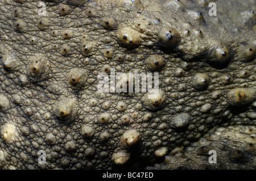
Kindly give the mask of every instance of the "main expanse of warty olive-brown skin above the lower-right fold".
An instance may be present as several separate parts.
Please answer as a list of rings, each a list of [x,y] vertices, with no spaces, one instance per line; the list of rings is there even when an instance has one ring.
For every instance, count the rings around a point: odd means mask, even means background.
[[[255,2],[214,2],[0,0],[0,169],[134,168],[223,123],[254,129]],[[159,94],[98,91],[113,69],[159,73]],[[248,151],[227,157],[253,168]]]

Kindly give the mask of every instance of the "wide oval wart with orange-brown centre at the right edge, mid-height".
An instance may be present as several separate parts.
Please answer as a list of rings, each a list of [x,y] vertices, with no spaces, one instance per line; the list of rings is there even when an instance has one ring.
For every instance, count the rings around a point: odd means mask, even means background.
[[[249,88],[236,88],[228,92],[227,101],[230,106],[243,106],[255,99],[255,90]]]

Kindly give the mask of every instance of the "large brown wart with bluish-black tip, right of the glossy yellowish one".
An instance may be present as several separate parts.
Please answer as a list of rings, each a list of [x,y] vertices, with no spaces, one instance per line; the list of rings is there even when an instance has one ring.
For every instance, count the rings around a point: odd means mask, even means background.
[[[180,33],[171,27],[163,27],[158,33],[159,43],[164,48],[174,48],[180,42]]]

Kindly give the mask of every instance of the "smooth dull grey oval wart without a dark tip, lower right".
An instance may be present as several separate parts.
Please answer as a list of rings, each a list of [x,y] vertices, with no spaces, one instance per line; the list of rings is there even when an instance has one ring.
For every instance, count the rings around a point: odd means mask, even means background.
[[[172,128],[183,128],[188,125],[190,120],[191,116],[188,113],[180,113],[171,120],[170,126]]]

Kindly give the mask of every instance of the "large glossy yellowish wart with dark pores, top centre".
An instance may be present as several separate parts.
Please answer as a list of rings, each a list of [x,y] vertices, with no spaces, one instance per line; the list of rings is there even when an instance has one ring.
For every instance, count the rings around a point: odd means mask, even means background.
[[[123,45],[123,47],[132,49],[136,48],[141,44],[141,36],[139,33],[131,28],[121,28],[117,31],[118,42]]]

